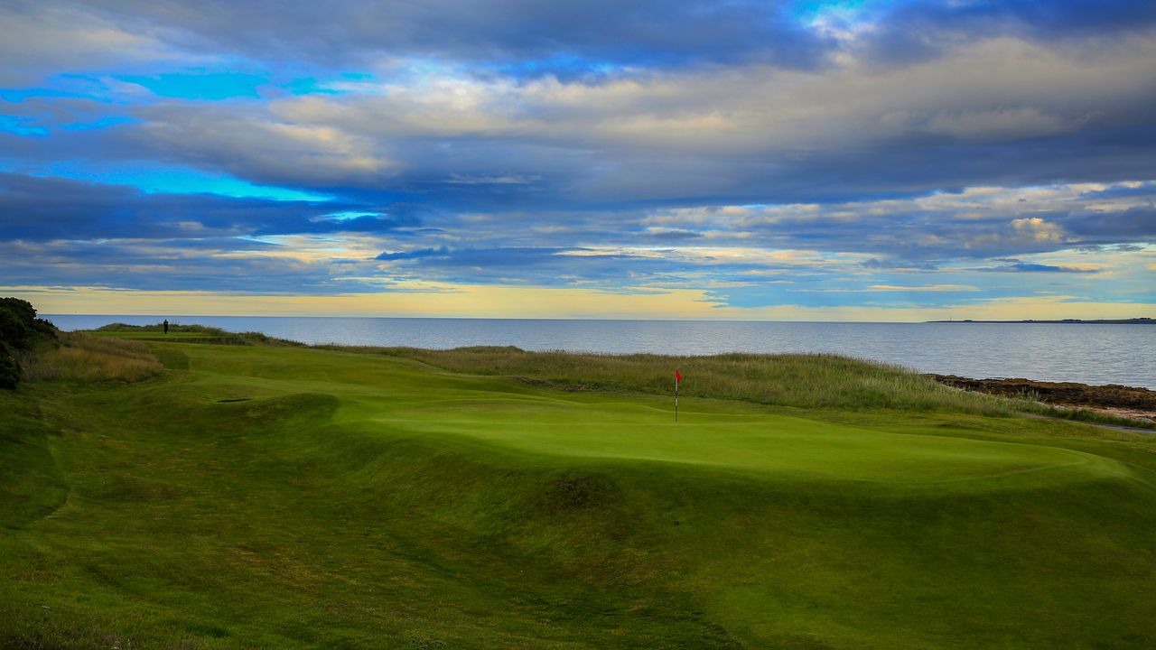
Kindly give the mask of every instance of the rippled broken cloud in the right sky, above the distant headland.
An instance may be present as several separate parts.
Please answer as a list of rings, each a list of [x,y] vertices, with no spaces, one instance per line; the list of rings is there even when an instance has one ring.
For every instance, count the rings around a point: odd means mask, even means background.
[[[1120,185],[1134,187],[1121,194],[1112,192],[1116,185],[1106,184],[969,187],[827,205],[674,208],[654,210],[642,223],[706,232],[711,241],[731,245],[872,253],[860,261],[866,269],[934,271],[951,258],[990,259],[1107,241],[1147,242],[1144,230],[1135,226],[1143,223],[1156,185]],[[1109,226],[1124,221],[1128,228],[1089,226],[1101,221]],[[1079,232],[1068,230],[1074,223],[1081,224]]]

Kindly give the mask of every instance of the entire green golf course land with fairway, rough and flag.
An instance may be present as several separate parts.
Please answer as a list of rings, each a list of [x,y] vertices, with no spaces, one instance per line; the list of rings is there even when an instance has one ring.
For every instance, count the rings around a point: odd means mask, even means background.
[[[1151,433],[821,355],[69,337],[0,391],[3,648],[1156,648]]]

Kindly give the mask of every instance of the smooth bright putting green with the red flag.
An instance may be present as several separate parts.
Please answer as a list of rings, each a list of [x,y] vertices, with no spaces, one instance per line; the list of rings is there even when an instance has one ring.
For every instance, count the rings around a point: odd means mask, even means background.
[[[421,419],[377,421],[541,453],[686,463],[796,478],[924,483],[1030,472],[1046,473],[1037,477],[1045,481],[1126,473],[1118,463],[1064,449],[891,434],[770,415],[720,422],[726,418],[689,412],[674,424],[669,413],[655,411],[484,402],[443,405]]]

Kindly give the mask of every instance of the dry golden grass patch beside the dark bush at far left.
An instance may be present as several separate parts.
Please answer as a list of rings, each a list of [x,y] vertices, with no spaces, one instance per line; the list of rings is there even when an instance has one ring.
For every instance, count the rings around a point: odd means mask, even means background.
[[[164,370],[141,342],[76,332],[61,332],[59,342],[59,347],[40,350],[23,363],[24,379],[141,382]]]

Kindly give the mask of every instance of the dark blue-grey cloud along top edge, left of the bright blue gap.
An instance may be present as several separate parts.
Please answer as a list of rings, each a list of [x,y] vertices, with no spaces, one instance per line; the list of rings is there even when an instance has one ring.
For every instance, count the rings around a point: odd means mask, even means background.
[[[95,0],[59,5],[98,14],[185,50],[326,66],[365,65],[383,56],[521,64],[527,74],[551,67],[565,72],[583,60],[590,60],[591,69],[605,62],[668,66],[750,59],[812,66],[830,47],[823,37],[792,20],[786,12],[792,3],[786,1],[207,0],[190,5]],[[551,64],[558,57],[563,58]],[[536,66],[525,65],[527,60]]]

